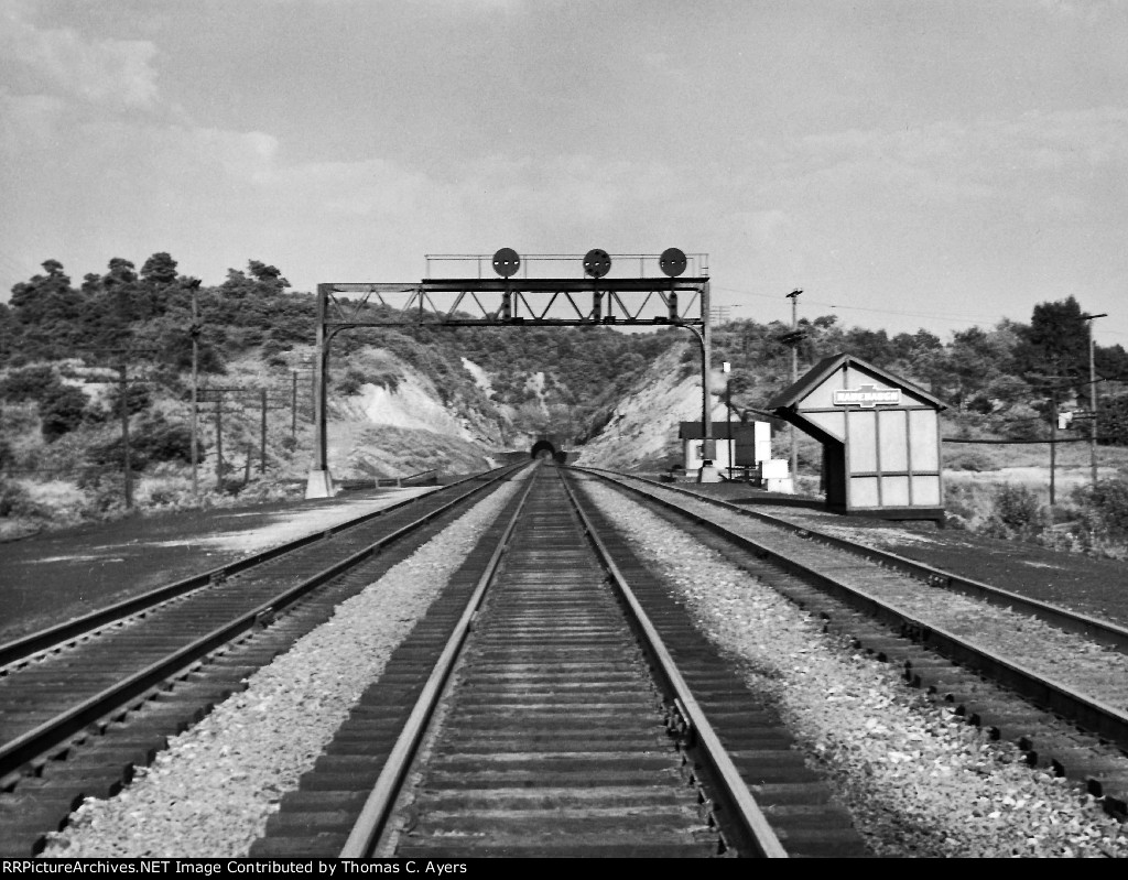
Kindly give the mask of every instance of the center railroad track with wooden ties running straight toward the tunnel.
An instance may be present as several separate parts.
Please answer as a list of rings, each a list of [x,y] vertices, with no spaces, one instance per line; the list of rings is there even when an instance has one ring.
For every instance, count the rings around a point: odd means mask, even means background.
[[[865,854],[770,706],[587,507],[538,468],[252,855]]]

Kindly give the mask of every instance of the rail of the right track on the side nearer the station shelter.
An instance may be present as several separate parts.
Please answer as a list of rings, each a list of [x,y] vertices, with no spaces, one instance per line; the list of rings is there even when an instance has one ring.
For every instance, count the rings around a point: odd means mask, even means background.
[[[961,574],[954,574],[950,571],[945,571],[944,569],[937,569],[923,562],[916,562],[915,560],[899,556],[898,554],[889,551],[867,547],[852,542],[848,538],[840,538],[836,535],[828,535],[825,531],[819,531],[818,529],[809,526],[799,526],[794,522],[788,522],[785,519],[779,519],[778,517],[774,517],[770,513],[765,513],[760,510],[741,508],[721,499],[708,498],[707,495],[700,495],[686,489],[678,489],[677,486],[658,483],[647,477],[619,474],[614,470],[607,470],[598,467],[579,467],[575,469],[598,474],[606,479],[615,479],[617,482],[620,482],[622,479],[633,479],[638,483],[643,483],[644,485],[653,486],[654,489],[673,492],[679,495],[694,499],[695,501],[700,501],[703,503],[721,508],[730,513],[750,517],[770,526],[776,526],[785,531],[790,531],[801,538],[809,538],[811,540],[835,547],[836,549],[845,551],[846,553],[851,553],[855,556],[862,556],[870,562],[874,562],[888,569],[909,574],[924,581],[929,587],[952,590],[953,592],[970,596],[972,598],[980,599],[981,601],[989,602],[990,605],[996,605],[1001,608],[1011,608],[1012,610],[1029,614],[1032,617],[1038,617],[1046,623],[1058,627],[1059,630],[1064,630],[1065,632],[1073,633],[1075,635],[1083,635],[1086,639],[1108,648],[1113,648],[1123,653],[1128,653],[1128,627],[1120,626],[1109,621],[1101,621],[1078,611],[1072,611],[1068,608],[1050,605],[1049,602],[1039,601],[1038,599],[1031,599],[1026,596],[1004,590],[1001,587],[993,587],[971,578],[964,578]]]

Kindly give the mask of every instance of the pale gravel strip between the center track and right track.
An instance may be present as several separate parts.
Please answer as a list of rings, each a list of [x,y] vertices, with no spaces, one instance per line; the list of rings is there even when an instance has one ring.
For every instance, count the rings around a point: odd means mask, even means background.
[[[609,489],[584,484],[698,625],[772,695],[873,851],[889,856],[1128,856],[1072,783],[932,706],[769,588]]]

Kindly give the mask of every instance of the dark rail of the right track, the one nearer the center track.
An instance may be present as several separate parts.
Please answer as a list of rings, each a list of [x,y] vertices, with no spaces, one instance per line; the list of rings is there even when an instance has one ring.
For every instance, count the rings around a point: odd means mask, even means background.
[[[929,644],[938,653],[955,662],[1004,684],[1036,704],[1073,720],[1079,727],[1113,742],[1117,747],[1128,749],[1128,714],[1114,706],[1109,706],[1099,699],[1081,694],[1060,681],[1034,672],[942,627],[913,617],[857,587],[851,587],[829,574],[811,569],[791,554],[768,547],[747,536],[738,535],[721,523],[678,507],[672,501],[651,495],[636,486],[608,477],[606,474],[594,473],[590,469],[581,470],[588,470],[592,476],[627,492],[642,495],[761,558],[772,560],[785,571],[816,583],[820,589],[872,617],[876,617],[893,627],[899,627],[905,635]]]

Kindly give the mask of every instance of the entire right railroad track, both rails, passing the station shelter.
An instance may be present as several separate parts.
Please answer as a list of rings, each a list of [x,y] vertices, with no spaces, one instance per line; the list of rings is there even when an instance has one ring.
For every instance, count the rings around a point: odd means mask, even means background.
[[[579,469],[578,469],[579,470]],[[1031,765],[1128,811],[1128,631],[649,479],[585,468],[900,666]]]

